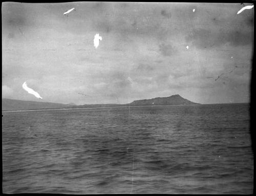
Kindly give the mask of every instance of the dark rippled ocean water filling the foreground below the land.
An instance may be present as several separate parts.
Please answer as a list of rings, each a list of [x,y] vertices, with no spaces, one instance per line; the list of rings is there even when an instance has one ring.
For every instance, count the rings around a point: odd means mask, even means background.
[[[4,193],[252,193],[249,104],[5,112]]]

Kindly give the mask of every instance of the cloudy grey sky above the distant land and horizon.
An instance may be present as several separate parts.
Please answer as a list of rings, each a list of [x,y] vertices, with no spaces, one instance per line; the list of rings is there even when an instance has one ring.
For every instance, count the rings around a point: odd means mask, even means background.
[[[246,5],[5,2],[2,96],[93,104],[179,94],[198,103],[249,102],[254,8],[237,14]],[[28,94],[25,81],[43,99]]]

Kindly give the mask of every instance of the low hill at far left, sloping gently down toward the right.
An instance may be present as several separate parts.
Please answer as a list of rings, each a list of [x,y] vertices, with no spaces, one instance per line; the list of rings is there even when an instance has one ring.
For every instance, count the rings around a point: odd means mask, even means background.
[[[68,105],[61,104],[61,103],[2,99],[2,111],[36,110],[36,109],[50,109],[50,108],[64,108],[64,107],[67,108]]]

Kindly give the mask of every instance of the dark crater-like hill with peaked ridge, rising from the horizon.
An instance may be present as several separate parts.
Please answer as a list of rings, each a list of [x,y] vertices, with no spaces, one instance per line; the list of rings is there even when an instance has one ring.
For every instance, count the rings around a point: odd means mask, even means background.
[[[180,105],[180,104],[199,104],[199,103],[194,103],[192,101],[184,99],[180,95],[136,100],[130,103],[130,105]]]

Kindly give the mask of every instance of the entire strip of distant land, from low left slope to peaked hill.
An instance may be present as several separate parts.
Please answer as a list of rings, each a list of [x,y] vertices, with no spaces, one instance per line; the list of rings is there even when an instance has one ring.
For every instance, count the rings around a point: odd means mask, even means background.
[[[153,99],[135,100],[127,104],[84,104],[76,105],[74,103],[50,103],[39,101],[22,101],[15,99],[2,99],[2,111],[19,111],[19,110],[42,110],[42,109],[61,109],[61,108],[87,108],[87,107],[114,107],[114,106],[140,106],[140,105],[187,105],[200,104],[184,99],[180,95],[169,97],[157,97]]]

